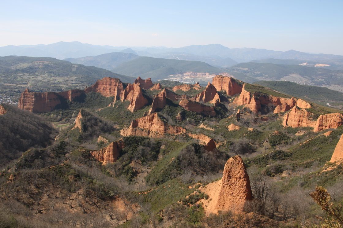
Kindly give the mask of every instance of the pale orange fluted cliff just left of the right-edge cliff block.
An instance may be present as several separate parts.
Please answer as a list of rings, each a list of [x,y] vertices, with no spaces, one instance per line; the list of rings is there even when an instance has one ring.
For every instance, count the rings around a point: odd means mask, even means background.
[[[313,113],[294,106],[290,112],[283,117],[283,126],[289,127],[315,127],[316,122],[311,120]]]

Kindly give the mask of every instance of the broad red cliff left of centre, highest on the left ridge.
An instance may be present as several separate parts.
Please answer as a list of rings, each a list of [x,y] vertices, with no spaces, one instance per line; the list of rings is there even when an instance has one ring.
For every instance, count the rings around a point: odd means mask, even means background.
[[[97,92],[104,97],[115,97],[119,100],[124,90],[123,83],[118,78],[105,77],[96,81],[90,87],[85,88],[85,92]]]

